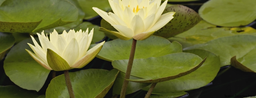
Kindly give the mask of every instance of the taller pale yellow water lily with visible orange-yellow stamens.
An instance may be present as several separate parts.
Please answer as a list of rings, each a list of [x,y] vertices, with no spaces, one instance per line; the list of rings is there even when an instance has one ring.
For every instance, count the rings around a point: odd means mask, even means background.
[[[108,0],[113,10],[104,12],[93,7],[104,20],[109,22],[116,30],[108,31],[122,40],[145,40],[153,35],[156,30],[165,26],[172,20],[175,12],[161,15],[166,7],[167,1],[160,6],[161,0]]]

